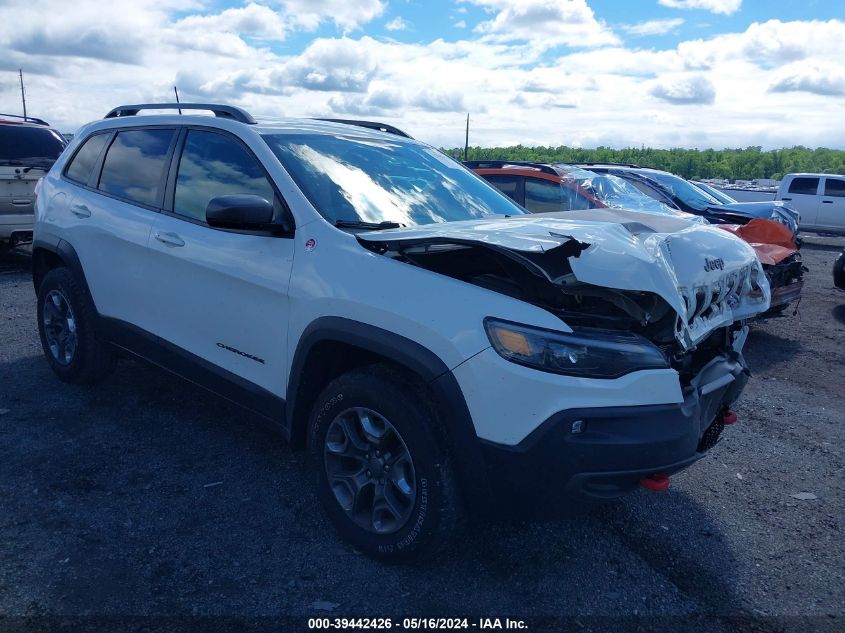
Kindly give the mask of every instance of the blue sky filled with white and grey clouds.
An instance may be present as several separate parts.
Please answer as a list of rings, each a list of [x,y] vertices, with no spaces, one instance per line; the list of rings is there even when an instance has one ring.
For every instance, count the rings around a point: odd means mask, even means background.
[[[0,112],[392,123],[439,147],[845,149],[845,0],[0,0]]]

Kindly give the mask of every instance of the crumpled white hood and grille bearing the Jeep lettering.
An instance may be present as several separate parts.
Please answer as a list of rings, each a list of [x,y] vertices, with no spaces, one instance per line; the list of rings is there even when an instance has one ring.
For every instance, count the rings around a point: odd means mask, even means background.
[[[379,231],[359,240],[541,307],[570,328],[634,332],[681,353],[768,309],[760,263],[723,231],[622,211],[551,215]]]

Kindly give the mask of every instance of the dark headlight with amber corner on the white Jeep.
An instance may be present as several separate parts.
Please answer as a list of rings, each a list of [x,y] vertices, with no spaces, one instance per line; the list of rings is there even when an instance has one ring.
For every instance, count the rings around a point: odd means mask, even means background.
[[[506,360],[555,374],[618,378],[642,369],[666,369],[663,352],[637,334],[578,328],[572,334],[487,318],[493,349]]]

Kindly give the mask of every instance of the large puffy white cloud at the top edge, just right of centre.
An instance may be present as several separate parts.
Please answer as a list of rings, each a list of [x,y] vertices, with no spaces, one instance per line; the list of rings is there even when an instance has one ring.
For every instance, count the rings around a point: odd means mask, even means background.
[[[495,12],[475,30],[501,42],[528,41],[540,47],[603,46],[619,40],[596,19],[586,0],[466,0]]]

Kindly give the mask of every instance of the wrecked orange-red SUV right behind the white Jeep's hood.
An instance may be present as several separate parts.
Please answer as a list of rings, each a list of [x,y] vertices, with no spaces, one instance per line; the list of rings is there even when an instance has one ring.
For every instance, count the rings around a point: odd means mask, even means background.
[[[673,209],[647,196],[612,174],[553,163],[478,160],[464,164],[531,213],[618,208],[707,223],[701,216]],[[806,269],[792,232],[778,222],[762,218],[744,225],[717,226],[742,238],[756,251],[772,289],[771,306],[763,316],[776,316],[791,304],[797,306]]]

